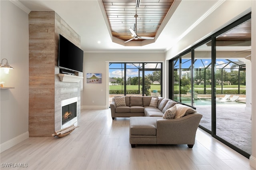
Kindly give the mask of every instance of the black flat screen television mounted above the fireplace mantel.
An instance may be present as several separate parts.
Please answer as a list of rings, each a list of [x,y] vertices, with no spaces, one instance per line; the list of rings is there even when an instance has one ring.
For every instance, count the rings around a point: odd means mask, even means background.
[[[62,69],[83,72],[84,51],[60,35],[58,66]]]

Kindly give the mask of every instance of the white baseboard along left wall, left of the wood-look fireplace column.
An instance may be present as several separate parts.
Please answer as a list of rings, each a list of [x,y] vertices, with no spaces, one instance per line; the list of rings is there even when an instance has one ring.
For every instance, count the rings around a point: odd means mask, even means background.
[[[23,140],[27,139],[29,137],[28,131],[20,134],[19,136],[16,136],[15,138],[12,138],[2,144],[0,144],[0,150],[1,152],[4,152],[5,150],[11,148],[12,146],[22,142]]]

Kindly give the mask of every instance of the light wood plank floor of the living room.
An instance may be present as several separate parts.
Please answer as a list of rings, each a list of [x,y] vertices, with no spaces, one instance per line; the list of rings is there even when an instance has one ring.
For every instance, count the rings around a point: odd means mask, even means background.
[[[1,170],[254,170],[249,160],[200,128],[187,145],[129,143],[129,118],[112,121],[110,109],[83,109],[79,128],[63,138],[29,138],[2,152]],[[5,164],[28,165],[6,168]]]

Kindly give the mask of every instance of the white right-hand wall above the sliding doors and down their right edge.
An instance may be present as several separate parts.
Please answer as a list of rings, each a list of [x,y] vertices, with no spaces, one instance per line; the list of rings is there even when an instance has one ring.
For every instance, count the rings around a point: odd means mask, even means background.
[[[252,85],[255,86],[255,65],[256,65],[256,2],[255,0],[239,0],[239,1],[225,1],[214,12],[200,22],[191,32],[189,32],[184,38],[176,43],[172,48],[166,51],[166,60],[172,59],[180,52],[188,49],[192,45],[204,40],[208,36],[217,32],[221,28],[224,28],[228,24],[231,24],[235,20],[241,18],[245,14],[252,12]],[[247,69],[247,65],[246,65]],[[250,67],[249,67],[250,71]],[[248,74],[250,75],[250,73]],[[166,82],[168,83],[168,82]],[[246,82],[250,83],[250,82]],[[166,85],[168,86],[168,85]],[[247,86],[247,85],[246,85]],[[248,85],[250,87],[250,85]],[[246,88],[247,90],[247,88]],[[250,165],[256,168],[256,91],[255,88],[251,88],[252,96],[252,156],[250,156]],[[250,93],[250,91],[247,91]],[[250,95],[248,95],[250,97]]]

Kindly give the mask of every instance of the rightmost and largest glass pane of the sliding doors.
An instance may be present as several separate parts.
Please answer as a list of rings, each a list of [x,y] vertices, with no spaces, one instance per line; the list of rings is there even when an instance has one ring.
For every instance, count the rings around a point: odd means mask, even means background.
[[[216,37],[216,136],[251,154],[251,117],[246,108],[246,63],[251,59],[251,20]],[[230,39],[230,35],[239,38]],[[225,49],[225,51],[223,50]],[[224,98],[228,96],[227,98]]]

